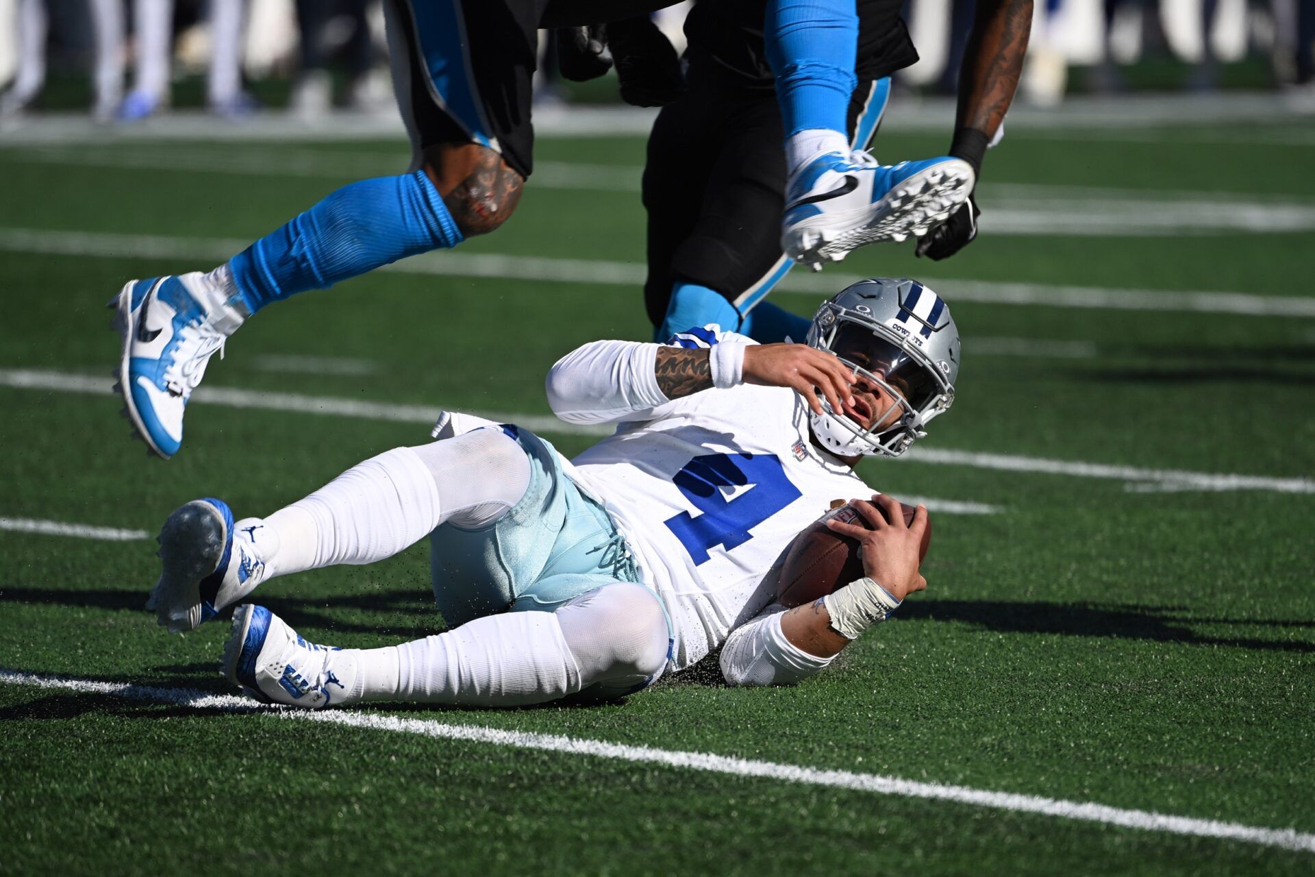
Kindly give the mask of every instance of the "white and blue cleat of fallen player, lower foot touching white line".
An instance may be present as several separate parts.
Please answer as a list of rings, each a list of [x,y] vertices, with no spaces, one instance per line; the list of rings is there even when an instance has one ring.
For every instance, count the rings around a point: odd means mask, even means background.
[[[352,652],[308,643],[264,606],[238,606],[224,644],[229,682],[263,703],[323,709],[352,693],[359,664]]]

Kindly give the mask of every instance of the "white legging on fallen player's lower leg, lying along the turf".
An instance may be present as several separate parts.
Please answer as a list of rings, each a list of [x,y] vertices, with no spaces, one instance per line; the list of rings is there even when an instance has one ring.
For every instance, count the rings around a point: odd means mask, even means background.
[[[647,588],[605,585],[555,613],[502,613],[402,646],[354,651],[351,699],[460,706],[623,694],[667,664],[667,619]]]

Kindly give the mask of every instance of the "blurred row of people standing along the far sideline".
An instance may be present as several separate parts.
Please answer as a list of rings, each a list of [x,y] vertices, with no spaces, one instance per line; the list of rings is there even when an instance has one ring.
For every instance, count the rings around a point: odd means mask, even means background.
[[[906,0],[922,59],[898,87],[952,93],[974,0]],[[659,13],[684,46],[689,4]],[[542,39],[551,55],[552,39]],[[1291,89],[1315,96],[1315,0],[1038,0],[1020,97]],[[241,118],[389,112],[379,0],[0,0],[0,116],[132,124],[170,108]],[[537,103],[619,100],[540,66]],[[610,79],[610,78],[609,78]]]

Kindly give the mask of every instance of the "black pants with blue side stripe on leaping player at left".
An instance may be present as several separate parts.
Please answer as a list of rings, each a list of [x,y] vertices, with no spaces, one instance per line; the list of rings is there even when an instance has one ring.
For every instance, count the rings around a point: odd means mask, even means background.
[[[473,142],[530,176],[539,28],[630,17],[672,1],[385,0],[393,88],[416,167],[427,146]]]

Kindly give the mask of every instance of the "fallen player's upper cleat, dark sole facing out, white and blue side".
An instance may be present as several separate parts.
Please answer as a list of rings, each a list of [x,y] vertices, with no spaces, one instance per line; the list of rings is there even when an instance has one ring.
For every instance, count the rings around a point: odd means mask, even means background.
[[[155,539],[160,579],[147,609],[171,634],[195,630],[266,579],[276,536],[259,518],[234,522],[222,500],[195,500],[168,517]]]

